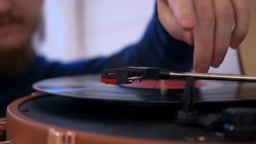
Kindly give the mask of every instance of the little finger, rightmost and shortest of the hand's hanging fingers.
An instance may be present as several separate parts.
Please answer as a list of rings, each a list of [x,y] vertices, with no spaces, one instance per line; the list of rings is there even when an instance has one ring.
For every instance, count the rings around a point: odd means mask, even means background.
[[[231,0],[235,11],[235,27],[232,32],[230,46],[234,49],[238,47],[245,39],[251,19],[251,11],[247,1]]]

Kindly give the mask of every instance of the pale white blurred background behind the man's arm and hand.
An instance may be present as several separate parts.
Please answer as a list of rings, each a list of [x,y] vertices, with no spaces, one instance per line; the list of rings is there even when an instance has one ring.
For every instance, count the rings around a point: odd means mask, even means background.
[[[154,13],[155,0],[46,0],[43,43],[37,51],[62,62],[108,56],[138,41]],[[235,50],[210,73],[240,74]]]

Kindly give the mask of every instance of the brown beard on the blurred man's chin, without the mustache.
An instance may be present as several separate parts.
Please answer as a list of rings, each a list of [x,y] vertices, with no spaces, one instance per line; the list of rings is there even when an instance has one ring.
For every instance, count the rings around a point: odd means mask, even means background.
[[[0,77],[14,77],[26,73],[34,58],[31,43],[25,43],[12,50],[0,47]]]

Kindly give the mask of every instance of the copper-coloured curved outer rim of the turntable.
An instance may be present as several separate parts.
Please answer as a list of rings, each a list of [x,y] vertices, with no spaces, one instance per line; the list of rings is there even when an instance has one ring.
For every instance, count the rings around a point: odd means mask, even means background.
[[[85,131],[72,130],[62,127],[56,127],[55,125],[45,124],[28,118],[19,112],[19,106],[26,101],[43,97],[42,93],[32,93],[24,98],[20,98],[11,103],[7,108],[7,140],[15,140],[18,143],[26,144],[61,144],[66,142],[67,144],[201,144],[202,142],[186,142],[186,141],[159,141],[159,140],[146,140],[146,139],[133,139],[129,137],[110,136],[103,134],[88,133]],[[57,137],[60,134],[64,137]],[[66,139],[65,137],[68,138]],[[74,137],[70,137],[74,136]],[[207,142],[211,144],[224,144],[223,142]]]

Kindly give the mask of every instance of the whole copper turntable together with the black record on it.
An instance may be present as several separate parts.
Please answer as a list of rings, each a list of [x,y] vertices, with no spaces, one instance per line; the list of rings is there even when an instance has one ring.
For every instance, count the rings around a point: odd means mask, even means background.
[[[222,131],[200,125],[177,124],[174,119],[182,106],[182,87],[101,85],[97,77],[60,77],[36,83],[34,88],[40,93],[8,106],[7,140],[26,144],[255,143],[230,139]],[[204,115],[232,106],[255,107],[254,87],[250,82],[200,81],[195,109]]]

